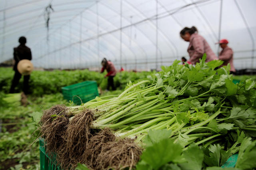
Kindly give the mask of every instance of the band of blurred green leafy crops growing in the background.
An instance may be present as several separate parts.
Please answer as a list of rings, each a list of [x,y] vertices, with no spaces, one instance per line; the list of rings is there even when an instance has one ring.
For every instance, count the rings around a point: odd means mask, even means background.
[[[14,71],[12,68],[0,68],[0,92],[8,93]],[[61,92],[61,88],[69,86],[79,82],[88,80],[94,80],[97,82],[98,87],[105,90],[107,87],[107,78],[104,78],[106,72],[100,74],[100,72],[92,72],[89,70],[53,70],[53,71],[33,71],[30,76],[30,92],[34,96],[42,96],[44,94],[55,94]],[[126,83],[129,81],[134,82],[138,79],[144,79],[151,72],[122,72],[116,74],[114,77],[114,83],[119,89],[124,89]],[[22,88],[22,81],[16,88],[16,92],[20,92]]]

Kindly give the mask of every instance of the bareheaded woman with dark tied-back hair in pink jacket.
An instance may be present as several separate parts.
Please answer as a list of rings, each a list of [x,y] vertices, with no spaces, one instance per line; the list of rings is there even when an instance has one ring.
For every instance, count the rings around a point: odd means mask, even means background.
[[[204,53],[206,53],[206,62],[218,60],[204,37],[197,32],[198,30],[194,26],[191,28],[185,27],[180,31],[181,38],[186,42],[190,42],[188,46],[188,54],[190,56],[188,63],[196,64]]]

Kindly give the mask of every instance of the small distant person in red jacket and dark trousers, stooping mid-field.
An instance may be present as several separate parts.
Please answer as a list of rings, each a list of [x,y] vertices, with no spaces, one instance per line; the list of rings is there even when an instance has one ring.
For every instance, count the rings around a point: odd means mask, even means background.
[[[105,69],[108,72],[108,74],[104,76],[105,78],[108,77],[107,90],[109,90],[110,86],[112,90],[116,90],[116,87],[114,85],[114,76],[116,76],[116,68],[114,67],[114,64],[111,61],[108,61],[106,58],[104,58],[101,62],[101,65],[101,73],[103,73]]]

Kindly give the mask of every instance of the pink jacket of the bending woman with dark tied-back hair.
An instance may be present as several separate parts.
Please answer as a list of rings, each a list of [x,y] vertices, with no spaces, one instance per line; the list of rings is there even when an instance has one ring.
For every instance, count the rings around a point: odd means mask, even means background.
[[[204,53],[207,55],[206,62],[218,60],[217,56],[214,54],[204,37],[194,33],[190,36],[189,42],[190,44],[188,46],[188,54],[190,59],[188,61],[192,64],[199,62],[199,59],[202,58]]]

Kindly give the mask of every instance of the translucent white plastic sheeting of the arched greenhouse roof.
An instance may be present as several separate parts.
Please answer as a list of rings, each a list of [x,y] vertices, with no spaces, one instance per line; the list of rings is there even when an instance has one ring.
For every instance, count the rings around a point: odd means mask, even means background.
[[[0,62],[26,36],[35,67],[98,68],[107,58],[155,69],[189,58],[179,32],[196,26],[216,54],[215,42],[229,40],[236,69],[255,68],[255,8],[255,0],[1,0]]]

